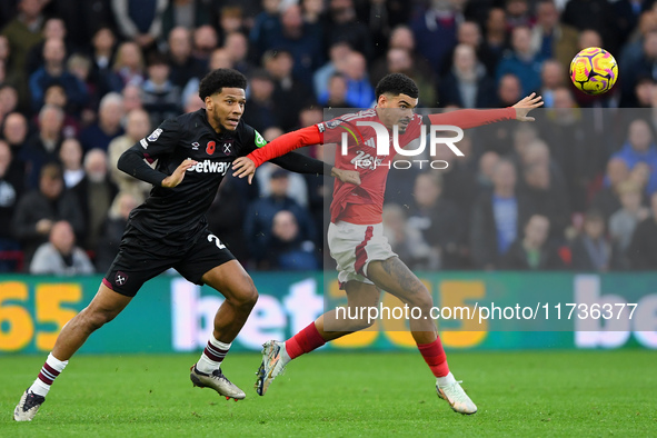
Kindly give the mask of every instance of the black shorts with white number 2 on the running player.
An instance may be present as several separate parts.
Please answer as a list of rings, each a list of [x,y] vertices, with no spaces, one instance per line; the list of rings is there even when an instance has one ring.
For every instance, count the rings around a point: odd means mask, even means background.
[[[235,260],[235,256],[208,230],[193,242],[169,245],[128,225],[119,253],[102,282],[116,292],[135,297],[141,285],[169,268],[189,281],[202,285],[206,272],[230,260]]]

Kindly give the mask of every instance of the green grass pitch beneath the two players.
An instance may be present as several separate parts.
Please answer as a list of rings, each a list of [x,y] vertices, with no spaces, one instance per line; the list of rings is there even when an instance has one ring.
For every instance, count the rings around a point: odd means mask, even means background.
[[[450,352],[474,416],[438,399],[417,352],[311,354],[265,397],[252,389],[260,356],[232,354],[223,370],[247,392],[239,402],[192,388],[197,355],[81,355],[36,419],[17,424],[44,358],[0,357],[0,437],[657,435],[656,354],[645,350]]]

